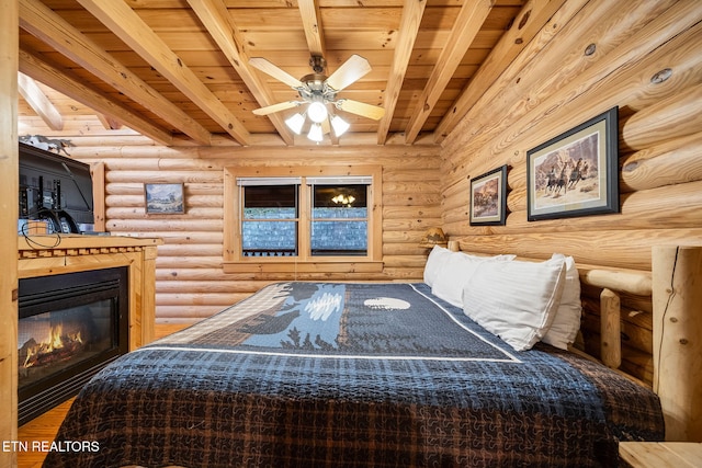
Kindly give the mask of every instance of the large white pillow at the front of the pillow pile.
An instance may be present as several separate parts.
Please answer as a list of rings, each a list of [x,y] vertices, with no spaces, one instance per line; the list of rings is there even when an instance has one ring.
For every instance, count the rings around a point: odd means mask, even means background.
[[[463,289],[463,311],[517,351],[551,327],[565,285],[563,259],[484,262]]]

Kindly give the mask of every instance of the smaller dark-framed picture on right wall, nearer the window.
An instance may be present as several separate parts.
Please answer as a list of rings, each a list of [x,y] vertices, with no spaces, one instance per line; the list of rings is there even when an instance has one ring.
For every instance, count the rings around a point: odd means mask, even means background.
[[[471,226],[505,226],[507,164],[471,179]]]

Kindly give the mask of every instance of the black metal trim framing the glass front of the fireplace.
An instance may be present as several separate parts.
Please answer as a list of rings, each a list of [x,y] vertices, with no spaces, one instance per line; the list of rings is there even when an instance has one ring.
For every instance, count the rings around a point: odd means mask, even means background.
[[[27,318],[52,310],[78,307],[93,301],[116,300],[113,320],[117,345],[84,359],[39,381],[18,389],[18,423],[33,420],[52,408],[78,395],[92,376],[129,351],[129,269],[117,266],[103,270],[64,273],[21,278],[19,282],[19,318]]]

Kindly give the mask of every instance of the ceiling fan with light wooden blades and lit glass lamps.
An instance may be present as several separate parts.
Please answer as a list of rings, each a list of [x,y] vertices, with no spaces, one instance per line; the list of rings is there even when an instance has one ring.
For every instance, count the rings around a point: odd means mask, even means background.
[[[333,128],[337,137],[347,132],[350,125],[340,116],[329,112],[328,105],[335,109],[361,115],[363,117],[377,121],[385,115],[385,110],[377,105],[366,104],[350,99],[337,99],[337,93],[354,83],[361,77],[371,71],[369,61],[360,55],[352,55],[333,73],[327,77],[324,71],[326,60],[318,55],[313,55],[309,65],[313,73],[306,75],[299,80],[280,69],[262,57],[249,59],[252,67],[258,68],[267,75],[288,84],[299,94],[299,101],[286,101],[253,111],[256,115],[269,115],[287,109],[307,104],[306,110],[296,113],[285,119],[285,124],[297,135],[302,133],[305,125],[305,117],[312,121],[307,137],[314,141],[321,141],[322,136]]]

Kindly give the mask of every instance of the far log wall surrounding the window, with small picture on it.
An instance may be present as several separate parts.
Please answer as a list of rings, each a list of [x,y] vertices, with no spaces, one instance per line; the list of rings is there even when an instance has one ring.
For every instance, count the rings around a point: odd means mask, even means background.
[[[94,137],[91,137],[94,138]],[[84,139],[82,142],[92,140]],[[158,147],[139,137],[87,146],[73,138],[71,156],[104,164],[104,221],[113,235],[158,237],[158,322],[200,320],[263,285],[297,279],[420,279],[427,250],[419,241],[441,224],[440,147]],[[381,164],[383,262],[380,273],[223,273],[226,165]],[[185,214],[147,215],[145,183],[183,182]]]

